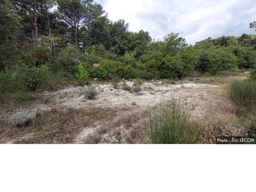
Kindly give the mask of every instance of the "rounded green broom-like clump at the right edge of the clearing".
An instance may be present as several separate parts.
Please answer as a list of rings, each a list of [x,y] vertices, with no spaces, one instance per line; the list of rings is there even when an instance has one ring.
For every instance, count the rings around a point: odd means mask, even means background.
[[[256,81],[245,79],[233,81],[227,87],[227,97],[236,107],[251,110],[256,106]]]

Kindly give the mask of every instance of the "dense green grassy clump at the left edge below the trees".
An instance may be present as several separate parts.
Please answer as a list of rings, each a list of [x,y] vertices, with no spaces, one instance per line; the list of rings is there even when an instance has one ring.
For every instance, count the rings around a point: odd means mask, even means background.
[[[25,88],[25,77],[19,71],[6,70],[0,72],[0,103],[22,101],[28,99]]]

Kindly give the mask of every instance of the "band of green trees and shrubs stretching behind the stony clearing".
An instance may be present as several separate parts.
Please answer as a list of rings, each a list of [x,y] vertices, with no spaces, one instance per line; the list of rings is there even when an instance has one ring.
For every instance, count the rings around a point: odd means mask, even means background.
[[[255,34],[188,45],[170,32],[156,41],[143,29],[129,31],[122,19],[109,20],[92,0],[0,0],[0,15],[1,84],[16,90],[54,88],[60,79],[181,79],[256,64]]]

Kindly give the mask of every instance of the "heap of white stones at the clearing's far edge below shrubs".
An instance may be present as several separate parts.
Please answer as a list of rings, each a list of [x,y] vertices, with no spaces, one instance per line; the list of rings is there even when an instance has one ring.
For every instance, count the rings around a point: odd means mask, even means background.
[[[131,82],[131,81],[128,81],[127,83],[119,83],[118,85],[120,87],[122,87],[124,84],[126,84],[130,87],[133,87],[133,82]],[[95,89],[96,89],[96,91],[100,91],[100,92],[108,94],[108,95],[128,92],[128,91],[124,91],[122,89],[114,89],[112,87],[112,85],[106,85],[106,84],[104,84],[104,85],[97,84]]]

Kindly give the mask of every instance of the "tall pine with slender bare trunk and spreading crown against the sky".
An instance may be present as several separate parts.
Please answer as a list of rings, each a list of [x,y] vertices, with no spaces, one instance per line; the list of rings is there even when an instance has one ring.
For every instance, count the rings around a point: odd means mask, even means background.
[[[58,0],[58,9],[63,20],[70,28],[74,43],[79,46],[78,31],[88,16],[86,4],[93,0]]]

